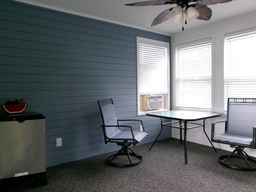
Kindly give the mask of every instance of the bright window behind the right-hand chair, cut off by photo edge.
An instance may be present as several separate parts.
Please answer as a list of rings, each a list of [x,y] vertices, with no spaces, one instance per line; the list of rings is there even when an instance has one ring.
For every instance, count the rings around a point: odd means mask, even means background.
[[[256,28],[225,35],[224,89],[228,98],[256,97]]]

